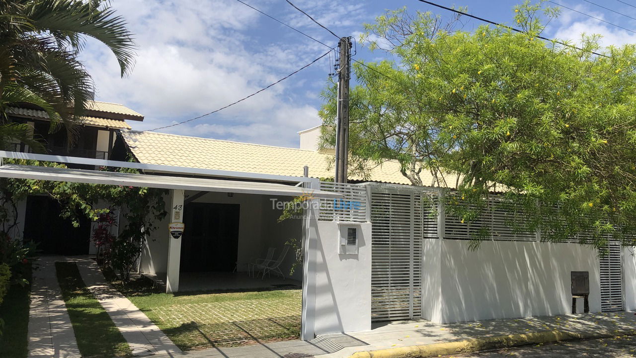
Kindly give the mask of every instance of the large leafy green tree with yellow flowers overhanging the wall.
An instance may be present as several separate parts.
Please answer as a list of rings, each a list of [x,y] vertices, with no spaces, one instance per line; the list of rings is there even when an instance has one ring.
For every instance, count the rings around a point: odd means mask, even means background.
[[[455,29],[460,18],[441,25],[404,9],[366,25],[361,43],[393,60],[354,64],[351,170],[399,161],[414,185],[457,188],[448,208],[461,220],[502,191],[522,213],[513,224],[541,230],[543,240],[635,245],[636,46],[605,48],[584,34],[577,43],[544,41],[537,36],[558,9],[526,2],[513,10],[520,32],[466,32]],[[329,147],[335,88],[324,96]]]

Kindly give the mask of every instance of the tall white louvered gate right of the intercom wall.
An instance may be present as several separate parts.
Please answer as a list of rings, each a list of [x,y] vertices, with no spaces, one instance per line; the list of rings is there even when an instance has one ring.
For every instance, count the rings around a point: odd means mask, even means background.
[[[436,230],[432,195],[371,186],[371,320],[422,316],[422,243]]]

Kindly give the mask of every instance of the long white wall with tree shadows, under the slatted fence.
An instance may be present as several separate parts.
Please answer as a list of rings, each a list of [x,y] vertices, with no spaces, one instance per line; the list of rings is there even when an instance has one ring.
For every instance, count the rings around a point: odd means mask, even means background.
[[[600,311],[595,250],[567,243],[485,241],[471,252],[468,241],[438,241],[427,244],[433,253],[424,257],[429,285],[424,292],[441,292],[441,302],[423,300],[427,319],[447,323],[570,313],[571,271],[589,271],[590,311]]]

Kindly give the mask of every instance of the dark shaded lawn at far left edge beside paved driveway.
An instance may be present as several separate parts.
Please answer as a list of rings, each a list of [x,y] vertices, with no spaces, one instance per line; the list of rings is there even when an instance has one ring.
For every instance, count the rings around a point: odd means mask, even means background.
[[[31,282],[31,272],[25,277]],[[31,285],[13,285],[0,306],[0,318],[4,320],[0,336],[0,357],[25,358],[28,354],[29,296]]]

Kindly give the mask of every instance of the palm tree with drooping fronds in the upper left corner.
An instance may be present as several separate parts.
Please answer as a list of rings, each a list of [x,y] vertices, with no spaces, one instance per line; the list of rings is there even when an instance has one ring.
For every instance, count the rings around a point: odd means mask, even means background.
[[[126,25],[107,0],[0,0],[0,150],[8,140],[38,144],[29,125],[9,122],[10,106],[37,106],[51,131],[64,125],[73,134],[95,93],[78,60],[86,36],[113,52],[124,76],[135,55]]]

